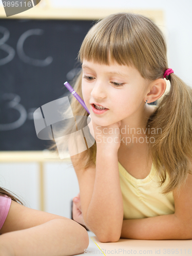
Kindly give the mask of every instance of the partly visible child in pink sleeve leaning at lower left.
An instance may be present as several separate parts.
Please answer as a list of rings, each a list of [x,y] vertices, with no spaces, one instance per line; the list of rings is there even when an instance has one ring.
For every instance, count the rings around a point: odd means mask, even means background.
[[[80,224],[20,203],[0,187],[0,256],[64,256],[87,248],[88,234]]]

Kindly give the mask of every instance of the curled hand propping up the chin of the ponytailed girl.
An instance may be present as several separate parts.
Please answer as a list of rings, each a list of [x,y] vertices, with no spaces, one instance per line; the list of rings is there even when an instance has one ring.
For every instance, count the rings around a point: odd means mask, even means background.
[[[91,115],[89,115],[91,118]],[[95,124],[92,120],[88,124],[90,134],[95,139],[97,146],[99,147],[112,147],[117,150],[120,147],[120,129],[121,121],[112,123],[107,126],[101,126]]]

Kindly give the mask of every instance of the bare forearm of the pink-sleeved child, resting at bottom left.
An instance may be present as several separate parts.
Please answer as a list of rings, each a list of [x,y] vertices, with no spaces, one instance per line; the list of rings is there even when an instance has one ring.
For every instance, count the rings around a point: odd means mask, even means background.
[[[1,245],[6,256],[73,255],[83,253],[87,248],[88,234],[72,220],[55,219],[39,226],[2,234]]]

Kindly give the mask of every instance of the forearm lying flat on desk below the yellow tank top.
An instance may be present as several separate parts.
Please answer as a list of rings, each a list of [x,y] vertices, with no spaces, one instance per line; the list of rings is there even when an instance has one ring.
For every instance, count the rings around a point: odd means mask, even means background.
[[[123,220],[121,238],[143,240],[187,240],[185,225],[174,214]]]

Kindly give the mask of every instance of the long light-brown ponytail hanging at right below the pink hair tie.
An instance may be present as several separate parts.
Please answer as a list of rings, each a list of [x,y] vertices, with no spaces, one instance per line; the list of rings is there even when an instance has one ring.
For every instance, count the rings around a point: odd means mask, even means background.
[[[170,74],[170,91],[159,102],[158,109],[148,119],[153,131],[149,143],[153,164],[161,178],[168,175],[168,184],[162,194],[169,193],[186,181],[192,165],[192,89],[177,75]]]

